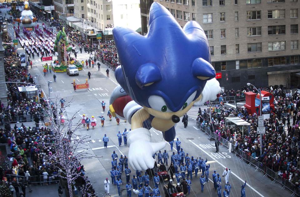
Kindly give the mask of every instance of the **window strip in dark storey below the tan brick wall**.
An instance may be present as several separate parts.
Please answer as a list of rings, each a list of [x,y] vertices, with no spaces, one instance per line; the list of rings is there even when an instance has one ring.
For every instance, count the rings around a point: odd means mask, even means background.
[[[212,62],[216,71],[261,68],[268,66],[284,66],[299,64],[299,56],[285,56],[264,59],[245,59],[236,61]]]

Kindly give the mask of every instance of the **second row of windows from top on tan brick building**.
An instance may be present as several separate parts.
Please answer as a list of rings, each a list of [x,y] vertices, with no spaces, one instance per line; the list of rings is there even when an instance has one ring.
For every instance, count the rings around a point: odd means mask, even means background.
[[[182,12],[182,11],[178,11]],[[174,15],[175,16],[175,15]],[[177,17],[178,18],[178,17]],[[285,10],[268,10],[268,19],[285,18]],[[298,18],[298,9],[290,9],[290,18]],[[225,22],[225,12],[220,12],[220,22]],[[261,20],[261,11],[247,11],[247,20]],[[203,14],[203,23],[212,23],[212,13]],[[238,21],[238,12],[234,12],[234,21]]]

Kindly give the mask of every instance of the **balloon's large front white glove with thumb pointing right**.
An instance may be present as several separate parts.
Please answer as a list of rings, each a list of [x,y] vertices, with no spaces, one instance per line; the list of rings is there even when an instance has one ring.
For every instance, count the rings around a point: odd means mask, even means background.
[[[134,170],[147,170],[153,168],[155,160],[152,155],[166,146],[165,142],[151,142],[148,129],[138,128],[127,134],[129,145],[128,160]]]

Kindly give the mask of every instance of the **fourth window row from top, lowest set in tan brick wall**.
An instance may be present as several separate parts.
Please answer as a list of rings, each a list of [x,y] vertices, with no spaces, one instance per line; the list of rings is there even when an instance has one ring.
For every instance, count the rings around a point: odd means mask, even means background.
[[[298,48],[299,41],[298,40],[291,40],[290,41],[290,46],[291,50],[294,49],[299,49]],[[214,47],[210,46],[210,54],[213,56],[214,55]],[[286,49],[286,41],[274,41],[274,42],[268,42],[268,51],[280,51],[280,50],[285,50]],[[247,52],[248,53],[253,53],[253,52],[262,52],[262,43],[248,43],[247,44]],[[235,45],[235,53],[239,54],[240,53],[240,45],[236,44]],[[227,50],[226,50],[226,45],[221,45],[221,55],[226,55]]]

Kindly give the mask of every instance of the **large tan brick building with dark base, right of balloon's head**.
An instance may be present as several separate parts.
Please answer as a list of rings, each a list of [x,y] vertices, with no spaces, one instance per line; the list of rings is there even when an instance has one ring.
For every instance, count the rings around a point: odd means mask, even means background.
[[[142,33],[148,31],[152,2],[140,2]],[[157,2],[180,26],[191,20],[202,26],[221,86],[241,88],[250,82],[258,87],[283,85],[289,89],[300,85],[298,0]]]

